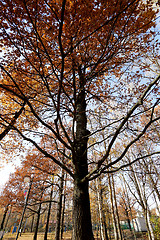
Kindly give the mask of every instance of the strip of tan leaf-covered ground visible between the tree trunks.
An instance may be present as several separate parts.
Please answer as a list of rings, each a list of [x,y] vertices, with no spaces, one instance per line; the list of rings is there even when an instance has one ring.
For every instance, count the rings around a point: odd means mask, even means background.
[[[130,232],[123,231],[124,233],[124,240],[134,240],[134,237],[131,236]],[[146,233],[136,234],[137,240],[148,240],[148,237],[146,236]],[[21,236],[18,237],[18,240],[33,240],[33,233],[23,233]],[[15,240],[16,239],[16,233],[5,233],[3,240]],[[37,240],[43,240],[44,239],[44,233],[39,233]],[[54,239],[54,232],[48,233],[48,240]],[[71,232],[65,232],[63,236],[64,240],[71,240]],[[111,239],[114,239],[114,236],[112,236]],[[100,240],[99,236],[96,236],[95,234],[95,240]]]

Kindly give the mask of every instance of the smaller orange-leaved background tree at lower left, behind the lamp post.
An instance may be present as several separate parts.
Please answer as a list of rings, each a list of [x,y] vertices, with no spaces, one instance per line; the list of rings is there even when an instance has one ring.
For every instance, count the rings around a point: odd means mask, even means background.
[[[47,204],[50,203],[50,201],[54,201],[53,199],[50,200],[48,193],[48,189],[53,187],[53,183],[50,181],[50,175],[43,173],[42,171],[39,171],[37,169],[33,169],[33,167],[31,168],[28,164],[28,161],[23,162],[22,166],[18,167],[15,173],[11,174],[8,183],[6,183],[6,186],[0,196],[1,206],[5,206],[5,204],[7,204],[12,207],[12,221],[10,221],[9,226],[7,226],[9,231],[11,226],[15,224],[18,227],[18,221],[21,220],[21,214],[26,203],[25,197],[27,189],[24,183],[24,177],[26,176],[26,174],[27,176],[31,177],[32,185],[30,188],[30,194],[27,201],[26,210],[24,212],[24,217],[22,220],[22,231],[25,230],[27,220],[29,219],[30,221],[30,218],[32,216],[34,216],[35,219],[37,218],[37,216],[39,216],[40,218],[40,214],[38,214],[38,210],[40,210],[39,206],[41,206],[41,210],[43,209],[43,211],[41,211],[42,215],[47,210]],[[54,191],[56,188],[57,186],[54,186]],[[43,198],[41,197],[42,195]],[[35,226],[37,226],[35,228],[36,239],[38,233],[39,219]]]

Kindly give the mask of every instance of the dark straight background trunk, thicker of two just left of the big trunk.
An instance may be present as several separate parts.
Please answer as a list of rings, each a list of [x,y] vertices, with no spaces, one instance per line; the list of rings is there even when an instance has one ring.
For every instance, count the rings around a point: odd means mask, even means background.
[[[58,206],[57,206],[57,220],[56,220],[56,229],[55,229],[55,240],[60,240],[63,184],[64,184],[64,171],[62,170],[62,176],[60,178],[60,186],[59,186],[59,200],[58,200]]]

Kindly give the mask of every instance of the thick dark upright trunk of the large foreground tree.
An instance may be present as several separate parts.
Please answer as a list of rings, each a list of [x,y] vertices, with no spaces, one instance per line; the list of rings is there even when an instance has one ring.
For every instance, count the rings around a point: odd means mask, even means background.
[[[79,68],[80,88],[76,99],[76,141],[72,153],[75,168],[73,193],[73,240],[93,240],[89,183],[82,179],[88,174],[87,164],[87,117],[85,78]]]

